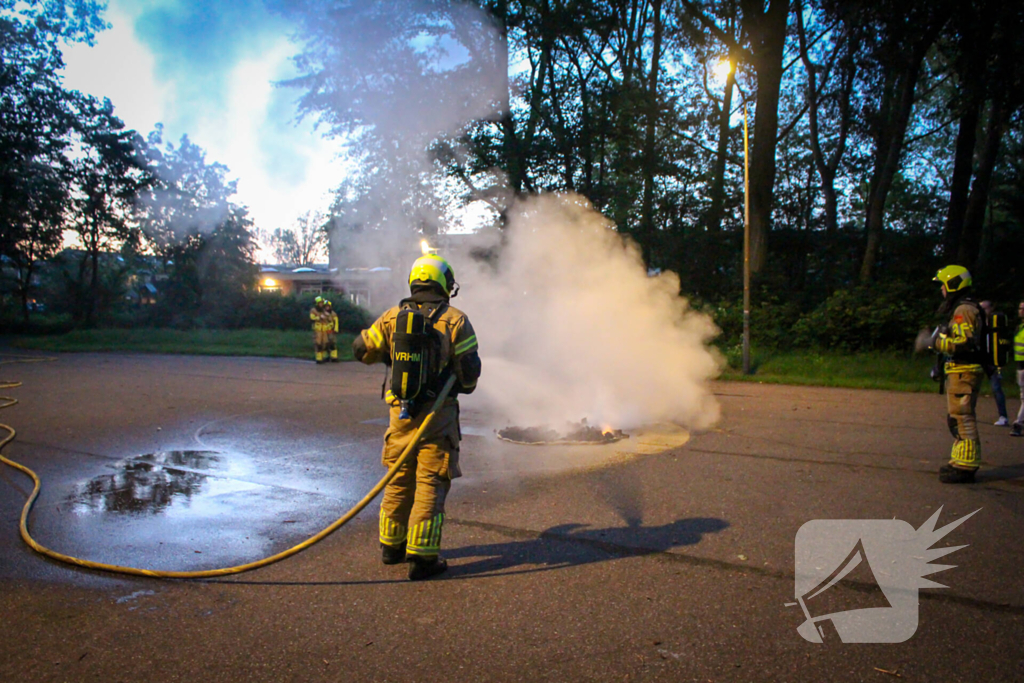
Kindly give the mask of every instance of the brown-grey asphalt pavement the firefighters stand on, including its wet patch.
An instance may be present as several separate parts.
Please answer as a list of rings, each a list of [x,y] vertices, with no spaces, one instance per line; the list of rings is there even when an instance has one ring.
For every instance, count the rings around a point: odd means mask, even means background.
[[[157,569],[248,562],[315,533],[383,473],[379,368],[55,358],[0,367],[24,383],[0,391],[19,400],[0,422],[18,432],[4,454],[43,479],[32,532],[58,552]],[[1024,438],[992,426],[990,398],[985,467],[953,486],[936,475],[942,396],[714,390],[715,428],[651,425],[602,446],[500,441],[464,399],[451,568],[428,582],[381,564],[376,505],[236,577],[63,565],[19,540],[31,482],[2,467],[0,681],[1024,680]],[[978,512],[940,538],[927,523],[940,508],[937,528]],[[860,528],[840,520],[890,520],[918,546],[880,560],[884,540],[865,532],[849,557],[826,557]],[[966,546],[934,560],[954,565],[928,577],[946,588],[891,592],[906,567],[911,583],[927,573],[929,545]],[[820,590],[804,590],[808,572]],[[899,623],[902,641],[849,642],[851,610],[861,640],[896,639]],[[805,621],[824,642],[798,633]]]

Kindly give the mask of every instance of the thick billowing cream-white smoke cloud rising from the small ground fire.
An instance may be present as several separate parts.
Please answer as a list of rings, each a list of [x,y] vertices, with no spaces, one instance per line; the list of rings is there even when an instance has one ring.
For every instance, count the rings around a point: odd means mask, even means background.
[[[483,360],[467,405],[517,425],[713,424],[718,330],[679,296],[678,276],[649,276],[640,250],[582,197],[516,208],[497,269],[454,266],[465,281],[455,303]]]

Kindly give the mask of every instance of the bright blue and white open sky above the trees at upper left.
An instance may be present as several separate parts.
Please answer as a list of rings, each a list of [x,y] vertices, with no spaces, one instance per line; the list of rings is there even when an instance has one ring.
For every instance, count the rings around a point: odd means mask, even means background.
[[[143,135],[163,123],[230,169],[258,227],[326,208],[344,176],[340,144],[296,124],[290,27],[263,0],[110,0],[112,28],[66,49],[66,85],[110,97]]]

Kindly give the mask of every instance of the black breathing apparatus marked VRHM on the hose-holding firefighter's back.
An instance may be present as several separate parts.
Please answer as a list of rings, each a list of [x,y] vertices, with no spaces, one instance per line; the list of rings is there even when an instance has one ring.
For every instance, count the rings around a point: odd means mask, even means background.
[[[409,420],[417,399],[437,396],[441,376],[441,338],[434,328],[446,304],[403,304],[391,337],[391,393]]]

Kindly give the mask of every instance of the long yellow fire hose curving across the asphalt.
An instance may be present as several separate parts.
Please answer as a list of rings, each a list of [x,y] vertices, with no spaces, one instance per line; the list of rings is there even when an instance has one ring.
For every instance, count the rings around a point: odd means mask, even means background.
[[[2,360],[0,361],[0,365],[7,365],[11,362],[37,362],[40,360],[52,360],[52,359],[53,358],[41,358],[41,357],[18,358],[16,360]],[[387,483],[392,478],[394,478],[394,475],[398,473],[398,468],[400,468],[406,463],[406,461],[409,460],[409,458],[412,456],[413,449],[415,449],[417,443],[419,443],[420,437],[423,436],[423,432],[426,430],[426,428],[430,425],[431,421],[434,419],[434,415],[441,407],[441,403],[444,401],[444,398],[447,397],[449,392],[452,391],[452,387],[455,385],[455,379],[456,379],[455,375],[449,378],[447,382],[444,384],[444,388],[441,389],[441,392],[439,394],[437,394],[437,399],[434,400],[434,403],[430,409],[430,413],[423,419],[423,424],[421,424],[420,428],[416,430],[416,433],[413,434],[413,440],[411,440],[409,442],[409,445],[406,446],[406,450],[401,452],[401,455],[398,456],[398,460],[396,460],[394,465],[392,465],[391,468],[387,471],[387,474],[385,474],[384,477],[380,481],[378,481],[373,488],[370,489],[370,493],[368,493],[362,498],[361,501],[356,503],[351,510],[346,512],[344,515],[342,515],[334,523],[332,523],[330,526],[325,528],[319,533],[309,537],[308,539],[306,539],[297,546],[289,548],[288,550],[284,550],[275,555],[264,557],[261,560],[256,560],[255,562],[248,562],[246,564],[239,564],[238,566],[232,566],[232,567],[223,567],[220,569],[202,569],[199,571],[158,571],[156,569],[140,569],[138,567],[125,567],[117,564],[104,564],[102,562],[92,562],[89,560],[83,560],[79,557],[72,557],[71,555],[65,555],[62,553],[50,550],[49,548],[46,548],[45,546],[42,546],[39,543],[37,543],[36,540],[32,538],[32,535],[29,533],[29,513],[32,510],[33,504],[36,502],[36,498],[39,496],[39,489],[42,485],[39,480],[39,476],[35,472],[30,470],[28,467],[19,465],[18,463],[15,463],[12,460],[8,460],[7,458],[3,457],[3,455],[0,455],[0,462],[3,462],[4,465],[9,465],[10,467],[13,467],[16,470],[25,472],[25,474],[32,477],[32,480],[36,484],[35,488],[33,488],[32,490],[32,495],[29,496],[29,500],[26,501],[25,507],[22,508],[20,530],[22,530],[22,540],[25,541],[25,543],[27,543],[29,547],[35,550],[37,553],[41,553],[43,555],[46,555],[47,557],[59,560],[60,562],[67,562],[68,564],[77,564],[78,566],[88,567],[90,569],[102,569],[103,571],[114,571],[117,573],[134,574],[137,577],[154,577],[157,579],[209,579],[211,577],[224,577],[231,573],[241,573],[243,571],[249,571],[250,569],[266,566],[267,564],[271,564],[279,560],[283,560],[286,557],[291,557],[292,555],[295,555],[296,553],[305,550],[314,543],[323,541],[327,537],[331,536],[336,530],[344,526],[345,523],[347,523],[350,519],[352,519],[352,517],[359,514],[362,508],[370,505],[370,502],[373,501],[375,498],[377,498],[377,494],[383,490],[384,486],[386,486]],[[22,386],[20,382],[10,382],[10,381],[0,380],[0,389],[11,389],[18,386]],[[0,400],[6,401],[0,404],[0,409],[9,408],[17,402],[16,398],[11,398],[10,396],[0,396]],[[7,436],[3,440],[0,440],[0,450],[2,450],[5,445],[10,443],[14,439],[14,435],[16,432],[14,431],[13,427],[2,423],[0,423],[0,428],[6,429],[8,432]]]

